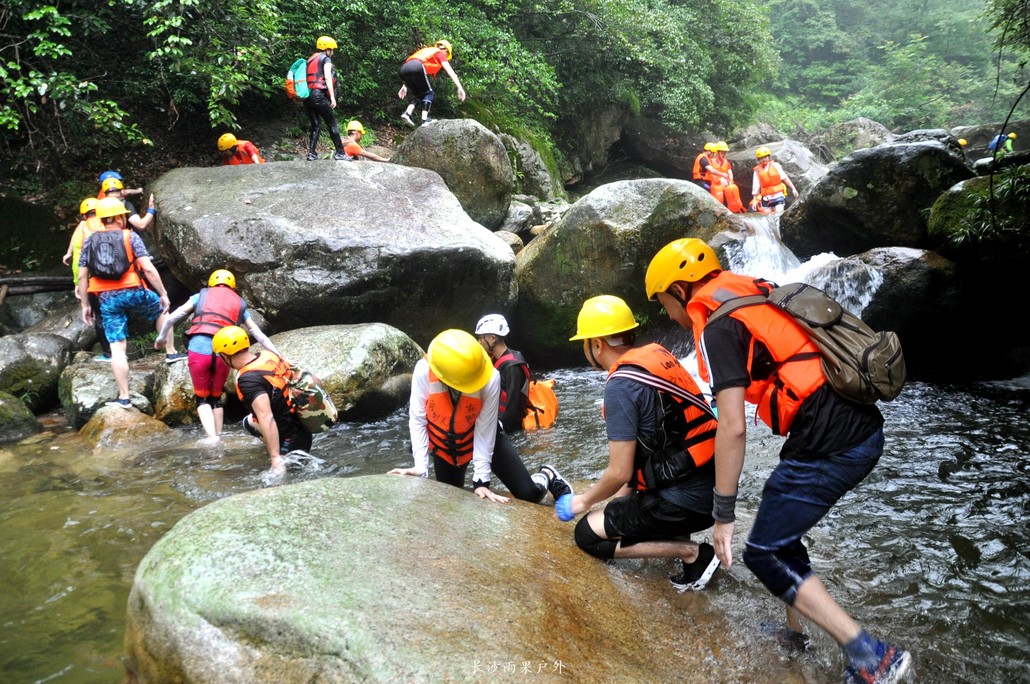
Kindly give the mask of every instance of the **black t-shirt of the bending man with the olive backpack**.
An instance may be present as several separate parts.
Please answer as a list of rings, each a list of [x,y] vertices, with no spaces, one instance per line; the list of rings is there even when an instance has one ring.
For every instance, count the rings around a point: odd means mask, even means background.
[[[732,316],[705,327],[701,343],[709,364],[712,392],[747,387],[751,378],[767,378],[776,371],[768,348],[755,340],[755,358],[748,375],[751,331]],[[829,383],[809,397],[790,425],[781,458],[827,458],[858,446],[884,424],[876,404],[856,404],[837,395]]]

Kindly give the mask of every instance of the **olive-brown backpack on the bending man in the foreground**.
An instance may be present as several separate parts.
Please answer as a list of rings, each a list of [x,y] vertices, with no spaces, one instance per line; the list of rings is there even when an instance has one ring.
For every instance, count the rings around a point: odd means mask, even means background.
[[[739,297],[713,311],[709,322],[742,306],[765,303],[789,313],[819,346],[823,375],[838,395],[876,404],[901,394],[907,371],[898,336],[872,330],[818,287],[793,282],[768,295]]]

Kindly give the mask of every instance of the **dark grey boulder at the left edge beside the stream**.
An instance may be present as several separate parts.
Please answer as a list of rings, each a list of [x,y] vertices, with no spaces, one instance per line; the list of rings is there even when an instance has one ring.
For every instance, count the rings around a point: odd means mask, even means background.
[[[58,399],[58,381],[71,352],[71,342],[53,333],[0,337],[0,391],[33,411],[48,407]]]

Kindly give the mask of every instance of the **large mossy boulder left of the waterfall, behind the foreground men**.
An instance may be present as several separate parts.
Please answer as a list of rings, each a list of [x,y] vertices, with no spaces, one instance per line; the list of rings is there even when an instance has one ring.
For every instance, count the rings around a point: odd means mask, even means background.
[[[639,320],[658,315],[647,302],[644,273],[654,254],[682,237],[713,240],[744,230],[741,219],[686,180],[624,180],[594,190],[518,254],[519,303],[512,326],[537,366],[582,362],[571,344],[583,301],[623,298]]]

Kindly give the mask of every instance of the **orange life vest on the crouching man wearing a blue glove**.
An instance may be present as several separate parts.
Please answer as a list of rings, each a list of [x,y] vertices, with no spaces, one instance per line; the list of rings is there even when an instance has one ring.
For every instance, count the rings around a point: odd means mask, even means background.
[[[643,370],[646,375],[641,375]],[[633,377],[633,376],[637,377]],[[682,477],[693,472],[699,466],[712,460],[715,455],[715,431],[716,418],[709,403],[701,396],[697,383],[683,368],[683,364],[660,344],[647,344],[643,347],[630,349],[619,357],[608,373],[609,379],[612,377],[623,377],[648,386],[654,387],[659,392],[675,398],[683,406],[683,421],[679,416],[666,416],[665,423],[658,425],[658,430],[650,444],[641,442],[643,448],[637,449],[633,456],[633,477],[637,489],[647,489],[647,477],[645,476],[646,460],[651,454],[659,449],[673,448],[686,450],[692,463],[684,464],[682,472],[670,473],[668,481],[664,484],[672,484]],[[650,376],[650,377],[647,377]],[[674,385],[668,387],[668,385]],[[665,385],[665,388],[662,387]],[[671,391],[672,390],[672,391]],[[687,395],[686,399],[684,396]],[[673,427],[675,423],[682,425],[679,430]],[[658,440],[675,435],[682,439],[682,444],[658,444]]]

